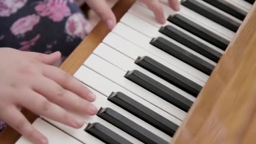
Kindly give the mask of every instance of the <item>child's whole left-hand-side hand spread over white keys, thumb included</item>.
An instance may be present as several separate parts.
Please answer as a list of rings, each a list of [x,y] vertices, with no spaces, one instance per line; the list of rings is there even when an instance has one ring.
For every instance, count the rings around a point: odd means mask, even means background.
[[[46,55],[0,48],[0,119],[35,144],[46,144],[47,138],[32,127],[19,108],[73,128],[81,128],[83,122],[65,109],[85,115],[97,113],[90,103],[95,96],[72,76],[51,66],[60,56],[59,52]]]

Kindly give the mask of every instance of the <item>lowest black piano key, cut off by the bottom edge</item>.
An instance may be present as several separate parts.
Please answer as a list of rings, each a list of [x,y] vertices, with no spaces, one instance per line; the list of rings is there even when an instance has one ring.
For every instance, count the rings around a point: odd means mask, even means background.
[[[84,131],[90,133],[92,136],[106,144],[132,144],[127,139],[111,131],[109,128],[101,125],[100,123],[88,123]]]

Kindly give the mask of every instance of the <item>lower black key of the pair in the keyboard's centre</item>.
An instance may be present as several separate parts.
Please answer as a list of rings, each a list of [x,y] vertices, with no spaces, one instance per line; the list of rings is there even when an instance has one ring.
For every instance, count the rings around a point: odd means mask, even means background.
[[[187,99],[179,93],[176,93],[176,91],[171,90],[156,80],[153,80],[151,77],[144,75],[138,70],[128,71],[125,74],[125,78],[131,80],[137,85],[140,85],[141,87],[147,89],[165,101],[175,105],[176,107],[184,110],[185,112],[188,112],[189,108],[193,104],[193,101]]]

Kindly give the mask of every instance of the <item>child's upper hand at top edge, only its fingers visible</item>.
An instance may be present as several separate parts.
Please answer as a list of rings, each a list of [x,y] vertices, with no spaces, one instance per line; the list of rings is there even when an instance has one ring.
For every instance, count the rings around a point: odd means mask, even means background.
[[[158,0],[139,0],[142,3],[146,4],[147,7],[154,12],[156,20],[164,24],[165,23],[165,17],[163,14],[163,8]],[[179,11],[179,0],[168,0],[169,5],[174,11]],[[102,21],[104,21],[107,24],[107,27],[109,29],[113,29],[116,25],[116,19],[114,13],[111,11],[109,6],[107,5],[105,0],[85,0],[85,2],[88,4],[89,7],[91,7],[101,18]]]

